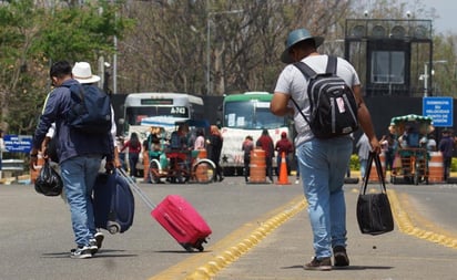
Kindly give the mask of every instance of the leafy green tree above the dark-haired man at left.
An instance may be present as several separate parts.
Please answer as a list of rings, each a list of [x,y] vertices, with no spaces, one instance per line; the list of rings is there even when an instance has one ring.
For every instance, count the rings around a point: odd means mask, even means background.
[[[118,17],[121,2],[108,1],[50,9],[33,0],[0,4],[0,128],[32,134],[50,91],[51,62],[88,61],[97,70],[100,55],[114,53],[133,20]],[[101,12],[103,11],[103,12]]]

